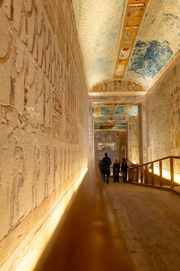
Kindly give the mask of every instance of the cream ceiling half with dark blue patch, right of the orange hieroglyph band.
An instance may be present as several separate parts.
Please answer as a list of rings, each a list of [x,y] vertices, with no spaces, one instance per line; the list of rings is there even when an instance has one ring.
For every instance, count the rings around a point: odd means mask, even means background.
[[[180,46],[180,1],[151,0],[148,13],[125,74],[148,89]]]

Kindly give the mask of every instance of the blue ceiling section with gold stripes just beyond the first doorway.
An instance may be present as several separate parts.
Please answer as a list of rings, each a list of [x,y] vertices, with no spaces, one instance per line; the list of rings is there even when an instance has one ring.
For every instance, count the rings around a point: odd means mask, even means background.
[[[137,103],[92,103],[93,117],[103,116],[137,116]]]

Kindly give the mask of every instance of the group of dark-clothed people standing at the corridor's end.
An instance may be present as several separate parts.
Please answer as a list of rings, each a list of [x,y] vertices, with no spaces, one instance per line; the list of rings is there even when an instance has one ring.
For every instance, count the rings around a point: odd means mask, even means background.
[[[110,165],[111,165],[111,158],[107,156],[107,153],[105,153],[105,157],[103,160],[99,160],[99,169],[101,171],[104,183],[109,184],[109,178],[110,178]],[[119,182],[119,172],[121,169],[122,172],[122,179],[123,183],[127,182],[127,172],[128,172],[128,164],[127,159],[122,158],[122,163],[120,167],[120,163],[118,163],[118,160],[115,160],[115,163],[113,164],[113,179],[114,182]],[[107,176],[107,179],[106,179]]]

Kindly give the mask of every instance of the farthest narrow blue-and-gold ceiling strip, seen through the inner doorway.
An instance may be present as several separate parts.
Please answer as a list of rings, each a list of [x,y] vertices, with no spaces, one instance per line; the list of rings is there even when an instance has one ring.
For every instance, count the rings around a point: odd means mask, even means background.
[[[119,130],[126,131],[126,122],[95,122],[95,130]]]

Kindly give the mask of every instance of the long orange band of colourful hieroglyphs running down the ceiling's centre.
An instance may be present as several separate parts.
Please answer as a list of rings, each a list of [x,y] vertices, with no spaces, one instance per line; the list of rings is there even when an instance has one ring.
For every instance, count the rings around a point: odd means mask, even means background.
[[[149,0],[128,0],[113,78],[123,78],[136,44]]]

